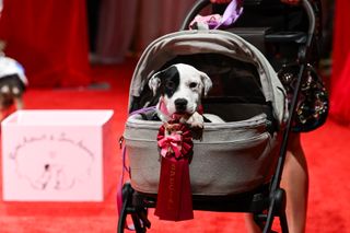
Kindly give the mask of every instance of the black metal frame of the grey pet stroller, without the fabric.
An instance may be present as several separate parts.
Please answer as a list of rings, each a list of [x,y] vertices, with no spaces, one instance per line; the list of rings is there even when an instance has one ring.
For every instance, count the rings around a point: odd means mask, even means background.
[[[247,3],[257,4],[258,0],[246,0]],[[190,21],[208,4],[210,0],[199,0],[192,7],[186,16],[182,28],[188,27]],[[254,214],[254,220],[261,228],[264,233],[271,232],[271,226],[275,218],[279,218],[281,231],[288,233],[288,222],[285,217],[285,191],[280,187],[283,165],[285,161],[285,153],[289,142],[289,136],[292,128],[292,119],[298,105],[299,92],[301,89],[302,78],[307,67],[310,56],[310,48],[315,35],[315,12],[313,5],[308,0],[302,1],[302,7],[308,18],[308,31],[305,34],[271,34],[266,35],[267,42],[283,42],[298,43],[303,42],[306,49],[301,49],[299,53],[300,70],[295,83],[293,97],[290,103],[290,116],[287,120],[285,128],[282,132],[282,142],[279,149],[279,156],[277,168],[270,184],[262,185],[254,190],[231,195],[231,196],[192,196],[194,210],[217,211],[217,212],[248,212]],[[240,34],[238,34],[240,35]],[[244,36],[243,36],[244,37]],[[148,209],[154,208],[156,203],[156,195],[143,194],[135,190],[129,183],[122,186],[122,207],[119,213],[117,232],[121,233],[127,228],[127,215],[131,215],[136,232],[147,232],[151,226],[148,220]]]

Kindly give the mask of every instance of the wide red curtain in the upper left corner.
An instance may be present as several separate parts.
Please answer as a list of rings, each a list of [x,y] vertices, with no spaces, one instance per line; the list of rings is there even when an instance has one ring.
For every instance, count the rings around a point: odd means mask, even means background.
[[[24,66],[30,86],[91,81],[85,0],[3,0],[0,39]]]

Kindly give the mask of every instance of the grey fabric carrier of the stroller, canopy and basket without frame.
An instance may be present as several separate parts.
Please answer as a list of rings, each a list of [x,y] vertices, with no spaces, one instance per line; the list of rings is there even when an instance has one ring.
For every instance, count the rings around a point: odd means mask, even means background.
[[[266,58],[241,37],[222,31],[166,35],[140,58],[131,82],[130,112],[153,102],[143,98],[152,95],[149,78],[176,62],[192,65],[211,77],[213,89],[203,100],[205,114],[225,120],[206,124],[202,140],[195,141],[192,194],[225,196],[269,183],[288,114],[283,88]],[[140,115],[130,116],[126,124],[131,186],[143,194],[158,193],[160,126]]]

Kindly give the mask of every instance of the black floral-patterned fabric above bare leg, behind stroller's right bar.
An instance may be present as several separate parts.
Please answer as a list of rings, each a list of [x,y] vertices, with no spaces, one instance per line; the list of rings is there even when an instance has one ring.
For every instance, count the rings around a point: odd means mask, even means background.
[[[311,65],[305,69],[292,124],[293,132],[314,130],[324,125],[328,116],[329,98],[325,84]],[[299,63],[283,66],[278,72],[289,103],[292,101],[299,72]]]

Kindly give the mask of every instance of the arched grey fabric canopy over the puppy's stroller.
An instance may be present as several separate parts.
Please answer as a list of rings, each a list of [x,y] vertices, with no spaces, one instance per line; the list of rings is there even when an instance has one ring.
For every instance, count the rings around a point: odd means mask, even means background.
[[[130,85],[129,112],[148,80],[178,56],[218,54],[252,63],[258,73],[266,102],[270,102],[280,125],[288,118],[285,91],[265,56],[242,37],[224,31],[180,31],[155,39],[143,51]]]

